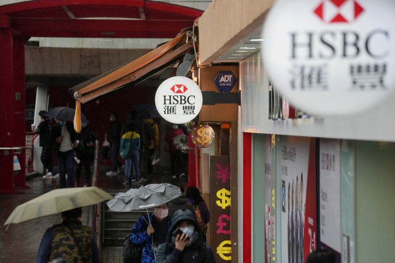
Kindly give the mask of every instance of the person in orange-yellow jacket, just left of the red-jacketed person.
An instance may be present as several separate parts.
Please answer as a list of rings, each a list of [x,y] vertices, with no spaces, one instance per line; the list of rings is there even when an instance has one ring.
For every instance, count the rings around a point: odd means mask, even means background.
[[[152,157],[154,152],[159,152],[159,128],[152,118],[144,119],[144,136],[145,145],[141,163],[142,174],[147,177],[153,173]]]

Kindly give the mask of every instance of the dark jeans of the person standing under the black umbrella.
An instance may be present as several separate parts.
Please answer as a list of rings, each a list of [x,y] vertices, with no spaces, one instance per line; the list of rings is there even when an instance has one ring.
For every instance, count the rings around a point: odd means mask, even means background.
[[[58,151],[56,153],[59,165],[59,181],[60,188],[74,187],[74,150]],[[66,172],[67,172],[67,185],[66,185]]]

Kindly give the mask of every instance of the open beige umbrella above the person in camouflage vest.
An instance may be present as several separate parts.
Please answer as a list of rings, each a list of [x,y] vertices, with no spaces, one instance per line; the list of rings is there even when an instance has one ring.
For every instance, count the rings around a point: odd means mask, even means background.
[[[55,189],[24,204],[18,205],[4,225],[18,224],[31,219],[58,214],[70,209],[100,203],[113,198],[97,187]]]

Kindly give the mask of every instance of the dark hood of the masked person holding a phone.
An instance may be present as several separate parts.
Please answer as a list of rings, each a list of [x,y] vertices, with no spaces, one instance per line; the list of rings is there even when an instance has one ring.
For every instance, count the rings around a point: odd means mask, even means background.
[[[182,210],[178,210],[171,219],[170,230],[167,233],[167,237],[166,237],[167,245],[170,247],[174,247],[174,244],[172,244],[171,242],[171,237],[173,235],[174,230],[177,228],[178,223],[180,223],[183,220],[191,221],[195,225],[195,232],[197,232],[198,236],[197,236],[197,240],[192,245],[192,247],[196,246],[197,244],[199,245],[201,242],[204,242],[203,231],[201,230],[200,225],[197,223],[197,218],[195,213],[192,213],[192,211],[188,209],[182,209]]]

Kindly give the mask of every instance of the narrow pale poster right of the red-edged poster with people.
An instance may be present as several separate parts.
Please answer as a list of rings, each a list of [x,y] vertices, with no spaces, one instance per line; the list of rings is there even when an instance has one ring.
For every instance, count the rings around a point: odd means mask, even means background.
[[[319,141],[320,242],[341,252],[340,140]]]

